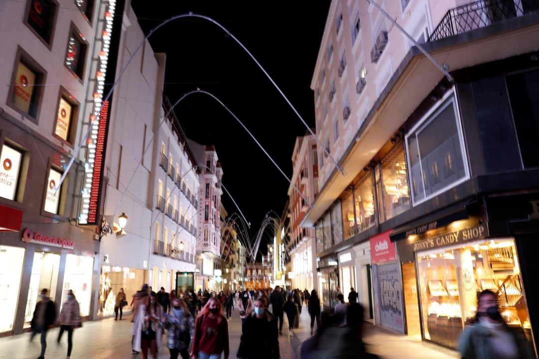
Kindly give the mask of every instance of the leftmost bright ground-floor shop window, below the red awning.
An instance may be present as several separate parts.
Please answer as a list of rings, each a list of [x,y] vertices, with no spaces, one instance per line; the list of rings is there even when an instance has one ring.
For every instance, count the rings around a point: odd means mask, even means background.
[[[23,261],[24,248],[0,245],[0,333],[13,330]]]

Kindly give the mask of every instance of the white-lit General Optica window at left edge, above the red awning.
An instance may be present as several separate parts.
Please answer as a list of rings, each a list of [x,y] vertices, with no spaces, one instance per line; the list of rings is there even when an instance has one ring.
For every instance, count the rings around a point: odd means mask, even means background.
[[[19,185],[23,153],[15,147],[2,145],[0,153],[0,197],[15,201]]]

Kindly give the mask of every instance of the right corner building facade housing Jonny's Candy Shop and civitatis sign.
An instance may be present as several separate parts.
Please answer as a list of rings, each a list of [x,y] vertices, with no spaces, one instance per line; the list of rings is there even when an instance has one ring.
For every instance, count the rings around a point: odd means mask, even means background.
[[[324,306],[350,283],[377,325],[454,348],[490,289],[537,348],[539,4],[377,4],[450,78],[371,3],[331,3],[312,89],[344,175],[319,154],[301,223]]]

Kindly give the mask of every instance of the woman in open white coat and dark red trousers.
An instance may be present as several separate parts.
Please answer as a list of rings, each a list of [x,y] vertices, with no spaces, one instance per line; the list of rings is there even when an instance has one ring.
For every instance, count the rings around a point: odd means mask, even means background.
[[[157,359],[157,351],[161,349],[163,335],[163,307],[157,303],[154,293],[150,293],[148,305],[142,305],[133,321],[133,350],[142,353],[142,359],[151,356]]]

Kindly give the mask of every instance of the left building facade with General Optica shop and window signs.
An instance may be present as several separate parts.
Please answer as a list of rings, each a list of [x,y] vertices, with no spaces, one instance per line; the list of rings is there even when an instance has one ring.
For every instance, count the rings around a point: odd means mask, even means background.
[[[57,310],[73,290],[95,318],[99,223],[81,193],[95,177],[96,136],[85,133],[115,10],[114,0],[0,4],[0,336],[30,327],[42,288]]]

